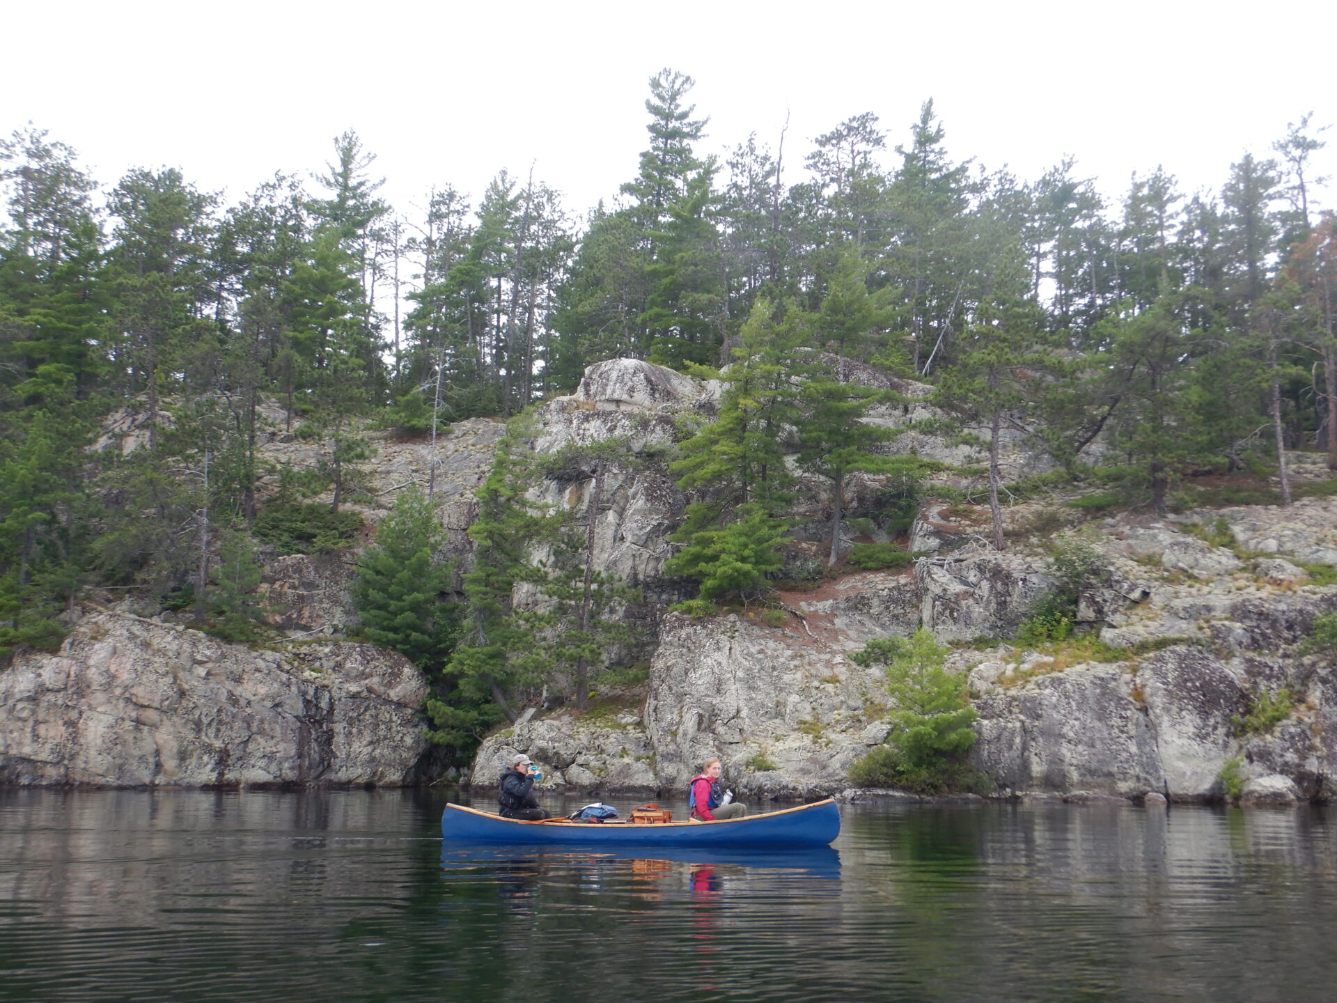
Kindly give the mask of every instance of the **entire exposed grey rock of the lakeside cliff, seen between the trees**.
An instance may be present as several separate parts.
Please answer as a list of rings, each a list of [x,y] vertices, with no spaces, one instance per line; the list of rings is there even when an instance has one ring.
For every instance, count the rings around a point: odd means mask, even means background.
[[[860,366],[850,377],[893,384]],[[931,416],[913,403],[924,388],[894,389],[912,403],[872,420],[905,429]],[[956,646],[952,663],[969,674],[980,713],[975,761],[1000,793],[1202,800],[1219,797],[1234,770],[1246,800],[1330,794],[1337,683],[1301,642],[1316,617],[1337,610],[1337,586],[1316,584],[1306,571],[1337,564],[1337,502],[1091,524],[1108,574],[1083,591],[1078,618],[1099,635],[1102,661],[1007,642],[1054,587],[1042,548],[1021,532],[1054,514],[1035,504],[1009,508],[1019,543],[1005,554],[981,544],[969,507],[931,506],[910,534],[912,548],[927,554],[912,570],[782,592],[782,617],[690,618],[667,611],[693,592],[663,570],[687,500],[667,463],[685,419],[709,419],[718,397],[718,384],[612,360],[591,366],[576,393],[536,409],[527,447],[537,456],[616,439],[635,457],[604,469],[596,512],[588,512],[592,472],[580,463],[550,464],[533,497],[591,518],[595,564],[640,590],[642,602],[624,611],[638,642],[619,654],[623,665],[646,659],[648,678],[599,694],[584,715],[527,709],[484,742],[471,774],[477,784],[491,786],[507,757],[525,752],[555,786],[677,790],[718,754],[746,797],[840,792],[850,764],[888,733],[880,674],[848,655],[923,626]],[[135,424],[116,421],[104,445],[126,449]],[[398,489],[435,479],[451,547],[471,559],[473,492],[503,433],[495,421],[459,423],[435,455],[427,443],[369,433],[377,455],[360,507],[374,523]],[[969,468],[981,459],[919,431],[889,448],[952,464],[940,476],[957,487],[977,476]],[[316,456],[277,427],[265,451],[295,465]],[[1004,456],[1013,475],[1043,469],[1017,437]],[[876,479],[856,479],[854,519],[874,512],[877,488]],[[824,504],[822,485],[802,485],[801,538],[821,535]],[[1211,524],[1217,536],[1193,524]],[[1227,547],[1213,546],[1221,526]],[[864,519],[850,532],[876,539],[878,526]],[[345,554],[267,564],[271,625],[298,639],[274,650],[136,617],[132,603],[90,607],[60,653],[25,655],[0,674],[0,780],[412,782],[425,753],[425,683],[396,655],[332,639],[352,623],[350,563]],[[313,635],[321,639],[301,641]],[[1284,718],[1242,729],[1259,697],[1280,690],[1292,699]]]

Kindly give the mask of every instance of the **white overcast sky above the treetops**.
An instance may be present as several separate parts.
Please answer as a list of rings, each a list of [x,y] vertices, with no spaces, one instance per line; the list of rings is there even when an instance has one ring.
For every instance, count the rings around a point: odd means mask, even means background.
[[[705,152],[749,132],[786,181],[873,111],[901,142],[935,99],[949,151],[1035,178],[1064,154],[1106,193],[1158,163],[1219,187],[1286,123],[1337,120],[1332,3],[11,3],[0,131],[32,120],[103,183],[180,167],[237,198],[320,170],[354,128],[402,211],[477,201],[501,167],[584,213],[636,170],[647,79],[695,78]],[[21,82],[21,83],[15,83]],[[1337,130],[1316,158],[1337,175]],[[1333,195],[1321,197],[1333,205]]]

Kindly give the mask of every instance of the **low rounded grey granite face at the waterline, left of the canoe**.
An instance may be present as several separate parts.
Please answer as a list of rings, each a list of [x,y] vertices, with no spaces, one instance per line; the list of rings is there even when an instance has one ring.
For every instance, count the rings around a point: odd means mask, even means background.
[[[251,651],[92,612],[0,673],[0,782],[402,785],[425,697],[408,659],[369,645]]]

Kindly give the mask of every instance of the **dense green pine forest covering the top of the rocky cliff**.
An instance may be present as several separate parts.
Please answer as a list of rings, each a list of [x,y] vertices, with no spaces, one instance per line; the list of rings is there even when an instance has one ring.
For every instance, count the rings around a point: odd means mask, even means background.
[[[719,421],[675,465],[705,492],[679,536],[703,594],[774,570],[781,425],[802,427],[837,532],[845,477],[898,469],[850,432],[869,395],[821,360],[931,385],[995,460],[1003,428],[1068,471],[1100,443],[1157,508],[1205,459],[1313,445],[1337,468],[1337,238],[1309,116],[1214,191],[1148,163],[1108,199],[1074,159],[1021,179],[961,156],[932,100],[898,130],[834,123],[801,166],[793,139],[714,155],[691,90],[650,79],[646,147],[588,209],[507,170],[394,207],[353,131],[234,201],[176,169],[94,178],[33,124],[0,142],[0,658],[59,643],[90,586],[245,638],[257,547],[356,532],[360,429],[519,415],[611,357],[730,366]],[[777,377],[796,368],[802,399]],[[277,495],[266,408],[321,447]],[[90,451],[116,409],[143,448]],[[991,464],[995,515],[1003,476]]]

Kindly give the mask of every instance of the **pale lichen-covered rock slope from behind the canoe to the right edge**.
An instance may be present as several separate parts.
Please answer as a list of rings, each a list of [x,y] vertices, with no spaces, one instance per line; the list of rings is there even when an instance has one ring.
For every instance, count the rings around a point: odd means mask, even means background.
[[[1013,526],[1029,516],[1009,514]],[[1193,531],[1209,524],[1230,527],[1230,548]],[[913,574],[785,594],[783,625],[663,617],[640,706],[598,737],[562,714],[507,729],[484,745],[477,782],[527,752],[554,785],[678,789],[719,756],[749,797],[840,792],[888,728],[878,674],[846,655],[923,626],[960,646],[953,662],[980,711],[973,757],[999,793],[1211,800],[1234,769],[1246,801],[1329,797],[1337,681],[1301,642],[1337,610],[1337,586],[1312,584],[1301,566],[1337,563],[1337,503],[1130,514],[1091,532],[1108,574],[1083,592],[1079,621],[1115,653],[1108,661],[989,642],[1009,638],[1054,587],[1046,558],[1025,546],[991,552],[932,507],[913,531],[932,556]],[[1294,702],[1286,718],[1241,730],[1254,702],[1282,689]]]

